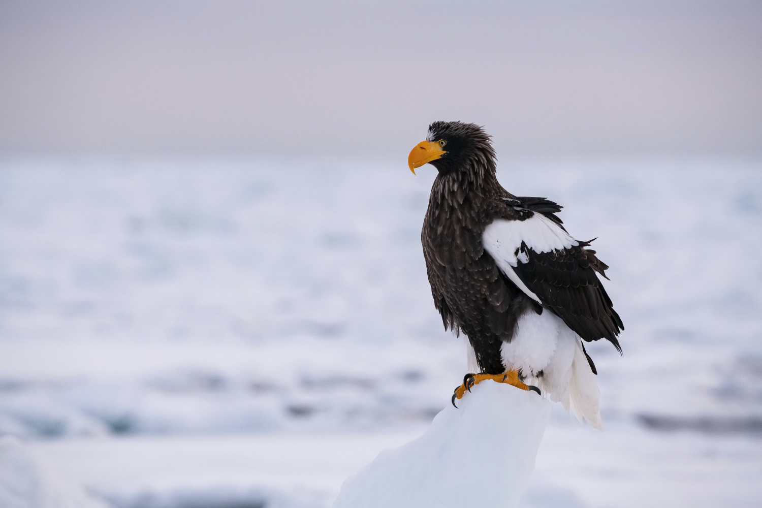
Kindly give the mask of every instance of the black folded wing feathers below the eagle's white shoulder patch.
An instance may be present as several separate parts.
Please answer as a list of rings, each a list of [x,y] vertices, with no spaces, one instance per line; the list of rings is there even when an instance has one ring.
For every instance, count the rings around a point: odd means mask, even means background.
[[[621,353],[616,336],[624,325],[597,276],[605,276],[608,267],[598,260],[595,251],[585,249],[589,244],[581,241],[571,248],[537,253],[522,242],[520,251],[527,262],[519,260],[514,272],[546,308],[580,337],[588,341],[610,340]]]

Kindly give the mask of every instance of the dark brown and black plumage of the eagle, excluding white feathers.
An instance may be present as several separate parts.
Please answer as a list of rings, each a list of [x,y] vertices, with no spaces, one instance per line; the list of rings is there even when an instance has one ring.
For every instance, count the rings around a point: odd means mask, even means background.
[[[624,327],[597,277],[608,267],[587,249],[589,242],[545,253],[524,243],[517,249],[526,262],[515,272],[541,304],[511,282],[482,245],[485,228],[496,219],[523,221],[541,213],[563,228],[555,216],[561,206],[504,190],[495,175],[495,151],[479,126],[435,122],[429,132],[428,142],[446,150],[429,161],[439,174],[421,232],[431,293],[444,327],[469,337],[482,371],[504,372],[502,343],[511,342],[520,316],[543,309],[582,339],[605,338],[621,351],[616,336]]]

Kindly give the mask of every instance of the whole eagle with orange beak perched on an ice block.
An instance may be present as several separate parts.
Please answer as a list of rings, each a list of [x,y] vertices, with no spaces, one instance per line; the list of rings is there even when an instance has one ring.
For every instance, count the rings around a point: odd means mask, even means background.
[[[533,390],[602,429],[597,370],[584,343],[620,353],[624,330],[598,276],[608,266],[566,231],[562,206],[514,196],[498,183],[491,137],[481,126],[434,122],[408,166],[437,168],[421,232],[434,306],[445,330],[469,342],[462,398],[492,379]]]

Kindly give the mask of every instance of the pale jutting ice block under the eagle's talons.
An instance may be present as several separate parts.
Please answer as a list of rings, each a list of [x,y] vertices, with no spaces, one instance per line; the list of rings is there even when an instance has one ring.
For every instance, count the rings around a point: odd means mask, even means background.
[[[527,487],[551,403],[486,381],[445,407],[423,436],[347,479],[334,508],[514,508]]]

